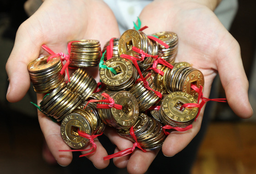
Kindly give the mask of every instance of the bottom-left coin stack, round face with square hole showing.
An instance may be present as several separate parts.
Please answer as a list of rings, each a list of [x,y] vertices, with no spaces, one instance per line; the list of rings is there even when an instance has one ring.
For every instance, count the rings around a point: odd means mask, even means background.
[[[86,106],[86,107],[85,107]],[[101,121],[96,103],[82,103],[67,115],[60,125],[60,133],[64,142],[71,148],[79,149],[87,145],[88,139],[78,135],[98,135],[104,131],[105,124]]]

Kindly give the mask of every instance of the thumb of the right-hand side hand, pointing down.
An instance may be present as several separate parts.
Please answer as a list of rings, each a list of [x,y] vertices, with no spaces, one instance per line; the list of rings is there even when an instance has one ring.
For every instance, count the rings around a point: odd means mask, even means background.
[[[248,99],[249,83],[241,59],[240,46],[230,34],[223,40],[223,45],[229,47],[220,46],[218,72],[226,97],[235,114],[249,118],[253,111]]]

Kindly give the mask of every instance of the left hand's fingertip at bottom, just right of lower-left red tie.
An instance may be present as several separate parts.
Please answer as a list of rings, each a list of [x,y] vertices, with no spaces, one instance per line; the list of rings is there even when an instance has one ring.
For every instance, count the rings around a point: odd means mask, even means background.
[[[94,139],[94,142],[97,146],[97,149],[94,153],[87,155],[86,157],[92,161],[93,165],[97,168],[97,169],[104,169],[109,165],[109,160],[104,160],[103,157],[108,156],[107,151],[105,150],[105,148],[103,148],[102,144],[98,141],[98,138],[96,137]],[[88,147],[87,147],[88,148]],[[87,149],[85,148],[85,149]],[[82,154],[87,153],[82,152]]]

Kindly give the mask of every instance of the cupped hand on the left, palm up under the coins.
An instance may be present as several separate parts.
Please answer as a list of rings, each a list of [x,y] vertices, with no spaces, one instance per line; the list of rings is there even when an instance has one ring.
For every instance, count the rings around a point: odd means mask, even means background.
[[[19,27],[15,45],[6,63],[10,80],[7,100],[21,100],[30,86],[27,65],[34,59],[48,55],[46,44],[54,53],[66,52],[67,43],[77,39],[97,39],[102,47],[111,37],[120,37],[112,11],[102,0],[45,0],[41,7]],[[64,52],[64,53],[65,53]],[[98,69],[95,75],[97,75]],[[90,72],[93,73],[93,72]],[[38,105],[43,94],[38,94]],[[60,126],[38,111],[38,120],[51,153],[60,165],[71,163],[70,149],[60,136]],[[93,164],[105,168],[106,150],[95,139],[97,151],[88,156]]]

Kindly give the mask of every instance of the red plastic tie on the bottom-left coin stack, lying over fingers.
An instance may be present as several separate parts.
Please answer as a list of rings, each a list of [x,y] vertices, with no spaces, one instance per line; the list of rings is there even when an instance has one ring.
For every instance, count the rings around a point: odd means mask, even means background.
[[[78,130],[78,135],[81,136],[81,137],[87,138],[90,141],[90,143],[92,144],[92,147],[88,148],[88,149],[59,150],[59,152],[84,152],[84,151],[89,151],[89,150],[93,149],[93,151],[91,151],[89,153],[82,154],[79,157],[84,157],[84,156],[90,155],[90,154],[94,153],[97,149],[97,145],[95,144],[93,139],[98,137],[98,136],[101,136],[102,134],[103,134],[103,132],[101,134],[98,134],[98,135],[88,135],[87,133],[81,132],[80,130]]]

